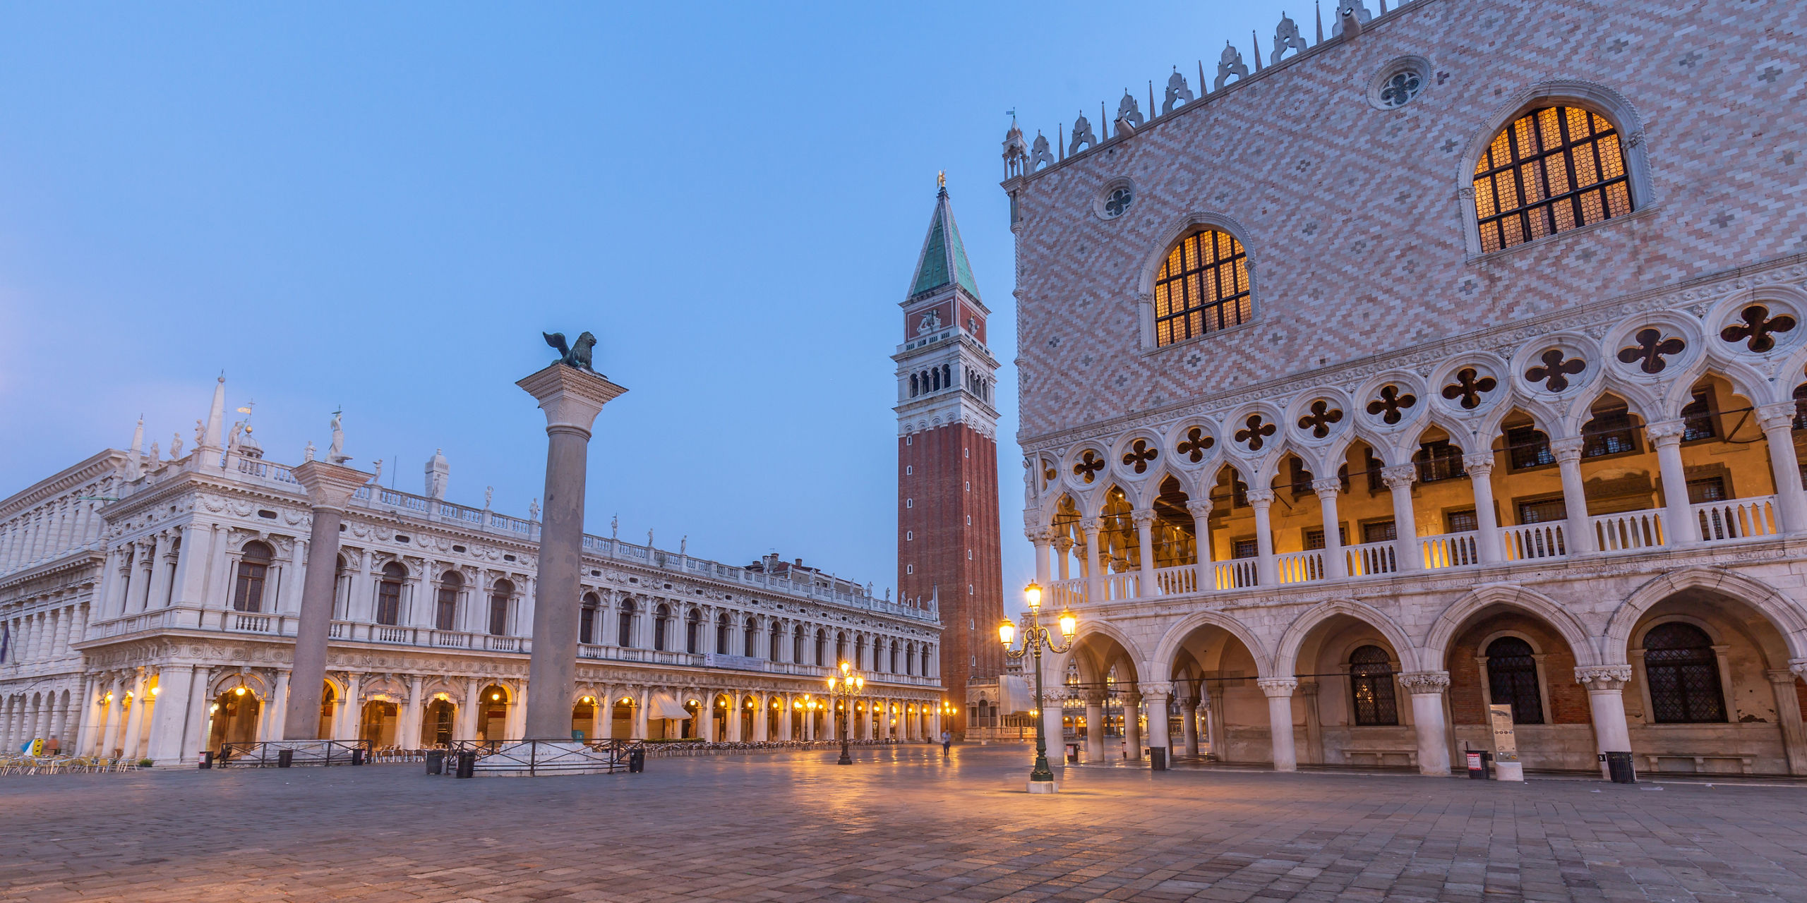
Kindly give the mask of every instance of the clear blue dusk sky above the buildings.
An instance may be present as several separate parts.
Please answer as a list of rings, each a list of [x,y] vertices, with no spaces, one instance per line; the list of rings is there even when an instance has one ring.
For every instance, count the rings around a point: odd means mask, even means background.
[[[1312,9],[1294,4],[1310,36]],[[192,442],[524,515],[540,330],[600,336],[589,531],[896,580],[898,302],[947,170],[990,305],[1005,585],[1032,576],[999,143],[1053,137],[1283,4],[390,4],[0,11],[0,497]],[[1370,4],[1370,9],[1377,9]],[[1252,61],[1252,60],[1250,60]],[[1146,103],[1146,99],[1144,99]],[[1097,123],[1095,123],[1097,125]]]

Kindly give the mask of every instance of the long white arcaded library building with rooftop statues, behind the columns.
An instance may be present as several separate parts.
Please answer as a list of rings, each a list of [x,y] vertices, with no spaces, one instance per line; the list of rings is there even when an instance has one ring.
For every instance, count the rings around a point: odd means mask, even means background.
[[[224,379],[195,444],[107,450],[0,500],[0,742],[193,762],[280,739],[311,509]],[[309,457],[311,457],[309,448]],[[342,527],[320,737],[421,749],[524,728],[538,549],[528,517],[374,480]],[[744,567],[584,536],[585,739],[940,735],[940,616],[768,554]],[[867,675],[833,703],[837,661]],[[844,706],[844,708],[835,708]],[[840,731],[840,733],[837,733]]]

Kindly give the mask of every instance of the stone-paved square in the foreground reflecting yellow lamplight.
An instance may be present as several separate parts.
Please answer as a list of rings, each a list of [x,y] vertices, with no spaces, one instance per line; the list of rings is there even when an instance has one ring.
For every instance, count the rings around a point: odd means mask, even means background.
[[[1807,787],[857,759],[11,777],[0,899],[1807,899]]]

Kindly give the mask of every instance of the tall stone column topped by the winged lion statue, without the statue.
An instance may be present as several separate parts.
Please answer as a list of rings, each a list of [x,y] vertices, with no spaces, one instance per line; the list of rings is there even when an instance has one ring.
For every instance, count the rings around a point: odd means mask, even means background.
[[[571,739],[576,690],[576,623],[584,596],[584,486],[589,430],[609,399],[625,388],[576,367],[553,363],[520,379],[546,412],[546,507],[533,605],[533,657],[528,665],[526,737]]]

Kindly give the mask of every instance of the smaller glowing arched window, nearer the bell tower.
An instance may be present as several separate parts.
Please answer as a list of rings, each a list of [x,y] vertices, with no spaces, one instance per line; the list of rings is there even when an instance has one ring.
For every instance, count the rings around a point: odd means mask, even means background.
[[[1249,255],[1232,235],[1200,229],[1167,253],[1155,278],[1155,343],[1173,345],[1247,323]]]

